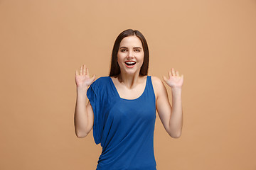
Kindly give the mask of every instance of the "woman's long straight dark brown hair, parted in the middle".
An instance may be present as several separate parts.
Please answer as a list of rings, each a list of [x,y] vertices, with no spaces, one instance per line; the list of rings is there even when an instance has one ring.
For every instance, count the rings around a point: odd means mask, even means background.
[[[122,33],[120,33],[117,36],[117,39],[114,41],[114,47],[113,47],[113,50],[112,50],[111,67],[110,67],[110,77],[117,76],[118,74],[120,74],[120,67],[117,63],[117,52],[119,50],[119,45],[120,45],[120,42],[122,41],[122,39],[124,39],[128,36],[132,36],[132,35],[136,35],[137,38],[139,38],[139,40],[142,41],[142,47],[143,47],[143,50],[144,50],[144,61],[143,61],[142,67],[139,71],[139,74],[141,74],[142,76],[146,76],[148,74],[148,69],[149,69],[149,47],[146,43],[146,39],[144,38],[142,33],[139,32],[139,30],[128,29],[128,30],[124,30]]]

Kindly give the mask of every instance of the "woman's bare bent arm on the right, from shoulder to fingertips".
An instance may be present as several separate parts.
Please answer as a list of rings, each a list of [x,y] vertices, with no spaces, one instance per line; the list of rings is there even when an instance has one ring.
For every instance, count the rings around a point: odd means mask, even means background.
[[[183,84],[183,75],[178,75],[174,68],[169,72],[169,79],[163,77],[168,86],[171,87],[172,107],[169,103],[166,88],[160,79],[154,77],[154,89],[156,89],[156,110],[159,113],[161,123],[163,123],[166,132],[171,137],[181,136],[183,126],[183,112],[181,106],[181,86]]]

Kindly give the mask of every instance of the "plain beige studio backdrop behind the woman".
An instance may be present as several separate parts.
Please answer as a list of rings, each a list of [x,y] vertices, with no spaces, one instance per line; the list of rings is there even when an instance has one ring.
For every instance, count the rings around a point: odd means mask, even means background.
[[[107,76],[127,28],[146,37],[149,75],[184,75],[181,137],[156,115],[157,169],[255,170],[255,0],[0,0],[0,169],[95,169],[92,131],[75,136],[75,69]]]

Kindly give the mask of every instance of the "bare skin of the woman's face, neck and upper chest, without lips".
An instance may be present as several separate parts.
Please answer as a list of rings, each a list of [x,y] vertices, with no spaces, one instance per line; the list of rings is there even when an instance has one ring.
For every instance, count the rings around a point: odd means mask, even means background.
[[[117,52],[117,62],[121,74],[111,77],[121,98],[134,99],[142,95],[146,85],[146,76],[140,76],[139,71],[144,60],[142,42],[137,36],[128,36],[120,42]],[[135,61],[133,68],[128,68],[126,61]]]

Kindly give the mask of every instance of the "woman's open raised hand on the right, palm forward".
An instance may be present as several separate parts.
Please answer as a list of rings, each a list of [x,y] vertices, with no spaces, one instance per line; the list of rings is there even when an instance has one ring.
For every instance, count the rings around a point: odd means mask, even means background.
[[[171,71],[169,71],[168,74],[169,74],[169,79],[166,79],[166,77],[163,76],[166,84],[174,89],[181,88],[183,84],[183,74],[180,77],[178,75],[178,71],[176,70],[175,72],[174,68],[171,68]]]

